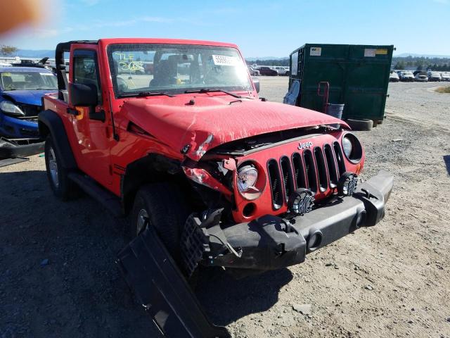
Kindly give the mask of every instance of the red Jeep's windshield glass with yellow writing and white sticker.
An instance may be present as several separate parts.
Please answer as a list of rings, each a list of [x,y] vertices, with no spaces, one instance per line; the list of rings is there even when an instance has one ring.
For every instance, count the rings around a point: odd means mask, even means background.
[[[179,94],[201,88],[252,89],[243,59],[230,47],[111,44],[108,58],[116,96],[139,92]]]

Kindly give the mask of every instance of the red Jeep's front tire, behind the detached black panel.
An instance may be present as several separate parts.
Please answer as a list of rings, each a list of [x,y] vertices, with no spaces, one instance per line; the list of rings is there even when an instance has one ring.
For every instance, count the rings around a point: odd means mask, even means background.
[[[179,261],[181,231],[188,215],[186,200],[174,184],[146,184],[134,199],[129,235],[136,237],[147,226],[153,226],[167,251]]]

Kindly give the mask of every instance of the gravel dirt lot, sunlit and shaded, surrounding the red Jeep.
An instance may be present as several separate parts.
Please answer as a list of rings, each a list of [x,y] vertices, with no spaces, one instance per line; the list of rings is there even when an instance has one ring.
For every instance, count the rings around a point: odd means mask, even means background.
[[[287,79],[261,80],[281,101]],[[364,177],[395,175],[385,220],[293,268],[203,274],[214,322],[234,337],[450,337],[450,94],[436,86],[390,84],[385,123],[357,133]],[[39,156],[0,168],[0,337],[157,337],[114,263],[120,225],[88,197],[57,201],[44,170]]]

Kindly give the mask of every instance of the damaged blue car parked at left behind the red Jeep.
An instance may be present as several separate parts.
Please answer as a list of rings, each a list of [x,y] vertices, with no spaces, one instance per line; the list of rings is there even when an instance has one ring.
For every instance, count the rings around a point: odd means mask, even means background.
[[[45,68],[0,68],[0,158],[42,151],[37,127],[41,98],[57,90],[56,75]]]

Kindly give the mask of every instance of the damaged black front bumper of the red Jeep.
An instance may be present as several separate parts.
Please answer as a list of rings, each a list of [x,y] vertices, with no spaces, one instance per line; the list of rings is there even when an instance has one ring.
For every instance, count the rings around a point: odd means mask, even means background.
[[[359,227],[371,227],[385,216],[394,179],[385,171],[359,184],[352,196],[333,201],[290,220],[264,215],[250,223],[224,227],[212,213],[203,222],[191,215],[182,236],[186,273],[198,263],[250,270],[275,270],[304,262],[320,249]]]

